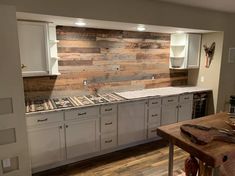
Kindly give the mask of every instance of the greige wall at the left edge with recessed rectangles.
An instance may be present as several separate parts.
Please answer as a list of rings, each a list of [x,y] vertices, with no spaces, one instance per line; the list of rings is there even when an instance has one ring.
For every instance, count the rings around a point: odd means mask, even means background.
[[[31,175],[25,121],[24,91],[21,76],[16,12],[14,7],[0,5],[0,132],[15,129],[16,141],[0,145],[0,163],[4,159],[18,157],[19,169],[7,176]],[[11,101],[7,102],[4,99]],[[8,134],[9,135],[9,134]],[[9,139],[3,135],[0,141]],[[14,141],[14,140],[13,140]],[[17,163],[15,160],[11,164]],[[0,164],[0,175],[8,168]]]

